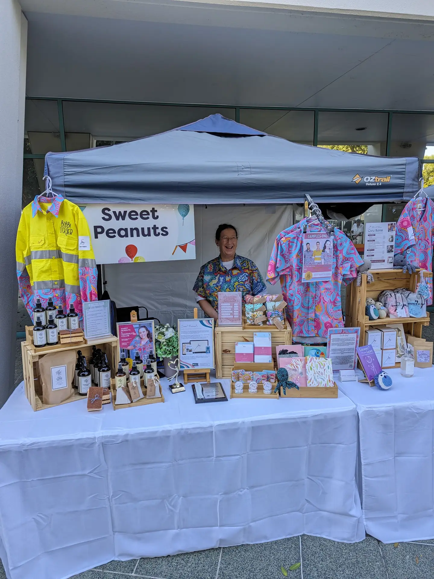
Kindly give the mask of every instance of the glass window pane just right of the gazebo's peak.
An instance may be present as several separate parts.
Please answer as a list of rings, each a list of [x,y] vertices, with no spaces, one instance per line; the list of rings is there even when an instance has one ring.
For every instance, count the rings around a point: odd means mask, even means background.
[[[240,109],[240,123],[303,145],[314,144],[314,111]]]

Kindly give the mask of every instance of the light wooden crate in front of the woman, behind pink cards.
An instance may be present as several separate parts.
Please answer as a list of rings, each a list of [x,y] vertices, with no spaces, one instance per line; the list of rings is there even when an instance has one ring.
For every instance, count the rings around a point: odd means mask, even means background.
[[[276,346],[290,345],[292,332],[286,322],[286,328],[279,330],[275,325],[248,326],[219,326],[215,328],[215,373],[216,378],[230,378],[231,369],[235,364],[235,343],[253,342],[254,332],[271,332],[271,351],[276,362]]]

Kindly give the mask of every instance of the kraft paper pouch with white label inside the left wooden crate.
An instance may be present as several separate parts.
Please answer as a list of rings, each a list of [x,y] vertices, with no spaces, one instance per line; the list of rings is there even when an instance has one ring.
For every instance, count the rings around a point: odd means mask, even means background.
[[[45,354],[39,358],[43,404],[61,404],[73,396],[72,379],[75,371],[75,351]]]

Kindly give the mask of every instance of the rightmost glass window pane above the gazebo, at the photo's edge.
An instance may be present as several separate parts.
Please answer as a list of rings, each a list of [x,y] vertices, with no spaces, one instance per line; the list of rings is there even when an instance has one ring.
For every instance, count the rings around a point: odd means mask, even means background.
[[[393,113],[391,157],[423,159],[430,144],[434,144],[434,115]]]

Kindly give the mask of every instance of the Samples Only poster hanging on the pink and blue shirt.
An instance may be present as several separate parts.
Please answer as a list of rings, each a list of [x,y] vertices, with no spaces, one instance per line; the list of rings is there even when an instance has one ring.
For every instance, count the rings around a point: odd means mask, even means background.
[[[328,233],[304,233],[302,281],[332,279],[333,237]]]

